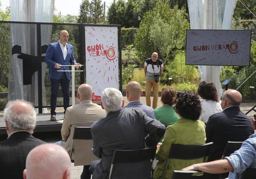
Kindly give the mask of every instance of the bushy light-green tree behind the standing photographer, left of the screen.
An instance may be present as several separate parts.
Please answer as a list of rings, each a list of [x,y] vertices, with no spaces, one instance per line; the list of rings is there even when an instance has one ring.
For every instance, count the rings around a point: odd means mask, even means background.
[[[168,2],[159,2],[152,11],[143,16],[135,36],[137,55],[144,61],[157,51],[160,58],[171,61],[172,51],[183,49],[186,30],[189,29],[188,15],[178,6],[171,9]]]

